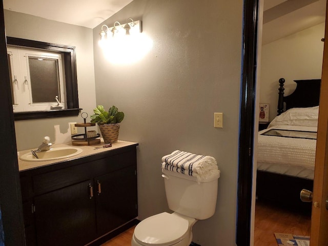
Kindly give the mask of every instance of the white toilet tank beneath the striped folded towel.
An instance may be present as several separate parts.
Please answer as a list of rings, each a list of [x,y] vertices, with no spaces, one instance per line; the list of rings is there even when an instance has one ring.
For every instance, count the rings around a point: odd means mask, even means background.
[[[197,183],[197,178],[162,169],[169,208],[195,219],[213,216],[216,207],[219,173]]]

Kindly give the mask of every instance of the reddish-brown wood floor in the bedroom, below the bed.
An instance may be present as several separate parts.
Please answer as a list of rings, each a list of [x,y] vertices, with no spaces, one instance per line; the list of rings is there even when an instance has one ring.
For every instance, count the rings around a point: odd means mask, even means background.
[[[256,201],[254,246],[278,246],[274,233],[310,236],[311,215]]]

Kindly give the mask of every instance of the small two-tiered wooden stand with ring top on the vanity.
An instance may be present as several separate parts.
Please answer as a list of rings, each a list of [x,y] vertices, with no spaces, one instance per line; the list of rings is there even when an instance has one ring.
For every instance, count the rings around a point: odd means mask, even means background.
[[[84,117],[84,115],[86,115]],[[75,146],[88,146],[88,145],[97,145],[100,144],[100,134],[96,133],[95,136],[88,137],[87,135],[87,127],[94,127],[96,124],[95,123],[87,123],[86,119],[88,117],[88,114],[86,112],[83,112],[81,114],[81,117],[83,118],[83,123],[76,123],[75,127],[84,127],[84,133],[82,134],[75,134],[72,135],[72,145]]]

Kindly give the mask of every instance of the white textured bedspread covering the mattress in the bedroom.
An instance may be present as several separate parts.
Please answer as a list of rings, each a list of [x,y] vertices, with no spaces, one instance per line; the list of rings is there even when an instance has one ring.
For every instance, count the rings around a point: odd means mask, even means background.
[[[313,179],[315,139],[265,136],[270,129],[316,132],[316,127],[274,126],[259,132],[257,170]]]

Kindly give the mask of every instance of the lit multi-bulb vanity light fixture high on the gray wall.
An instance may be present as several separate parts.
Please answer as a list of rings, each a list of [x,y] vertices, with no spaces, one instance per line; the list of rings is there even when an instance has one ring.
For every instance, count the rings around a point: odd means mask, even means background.
[[[130,20],[130,22],[129,22]],[[105,28],[105,29],[104,29]],[[131,32],[131,33],[130,33]],[[132,33],[141,33],[141,22],[140,20],[134,21],[132,18],[127,19],[126,24],[120,24],[115,22],[113,27],[108,27],[107,25],[101,26],[100,31],[100,42],[109,40],[116,37],[117,35],[132,35]]]

